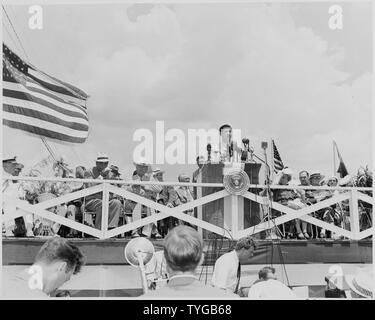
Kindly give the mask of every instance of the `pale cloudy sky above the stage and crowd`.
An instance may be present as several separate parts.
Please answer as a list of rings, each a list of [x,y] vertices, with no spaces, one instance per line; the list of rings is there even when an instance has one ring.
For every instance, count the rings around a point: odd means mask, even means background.
[[[333,139],[349,171],[370,164],[371,5],[343,3],[342,30],[328,27],[329,6],[46,5],[42,30],[28,28],[27,6],[6,9],[30,61],[90,95],[87,142],[52,148],[71,165],[106,152],[129,177],[133,133],[156,120],[186,134],[230,123],[258,154],[274,138],[295,172],[331,175]],[[3,37],[22,56],[14,35]],[[38,138],[3,134],[4,156],[32,165],[46,154]],[[194,169],[159,167],[167,180]]]

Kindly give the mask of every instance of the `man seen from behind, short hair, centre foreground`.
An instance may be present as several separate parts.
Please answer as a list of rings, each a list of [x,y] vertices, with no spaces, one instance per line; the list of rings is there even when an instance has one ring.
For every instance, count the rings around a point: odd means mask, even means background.
[[[178,226],[168,232],[164,242],[169,282],[166,286],[143,295],[152,297],[238,297],[218,288],[207,286],[196,277],[197,267],[203,262],[203,240],[188,226]]]

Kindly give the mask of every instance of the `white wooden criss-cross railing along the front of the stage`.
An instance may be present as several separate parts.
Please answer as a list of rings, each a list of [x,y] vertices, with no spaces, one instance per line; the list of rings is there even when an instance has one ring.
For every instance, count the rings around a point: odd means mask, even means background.
[[[7,178],[3,178],[6,180]],[[8,178],[9,179],[9,178]],[[12,180],[14,177],[12,177]],[[97,185],[93,187],[89,187],[87,189],[83,189],[80,191],[75,191],[70,194],[54,198],[51,200],[47,200],[38,204],[28,204],[23,202],[17,202],[16,206],[19,209],[32,213],[34,215],[40,216],[42,218],[49,219],[53,222],[58,224],[67,226],[69,228],[84,232],[86,234],[90,234],[94,237],[100,239],[107,239],[119,234],[137,229],[139,227],[145,226],[150,223],[155,223],[158,220],[165,219],[167,217],[175,217],[177,219],[183,220],[188,222],[192,225],[198,226],[199,230],[202,229],[208,230],[210,232],[214,232],[216,234],[233,238],[239,239],[246,235],[256,234],[275,226],[279,226],[284,224],[288,221],[294,219],[300,219],[306,221],[312,225],[315,225],[320,228],[324,228],[326,230],[330,230],[335,232],[339,236],[343,236],[353,240],[360,240],[366,237],[369,237],[373,234],[373,226],[371,223],[371,227],[360,231],[360,214],[359,214],[359,205],[358,200],[362,200],[368,204],[373,203],[373,198],[364,194],[360,191],[372,191],[372,188],[354,188],[354,187],[302,187],[302,186],[271,186],[271,189],[309,189],[309,190],[339,190],[340,193],[338,195],[334,195],[331,198],[313,204],[311,206],[307,206],[301,208],[299,210],[291,209],[287,206],[281,205],[274,201],[270,201],[266,197],[262,197],[258,194],[253,192],[245,192],[241,196],[232,195],[228,193],[224,189],[224,185],[222,183],[176,183],[176,182],[146,182],[146,181],[119,181],[119,180],[94,180],[94,179],[62,179],[62,178],[39,178],[39,177],[17,177],[17,180],[29,180],[29,181],[64,181],[64,182],[81,182],[81,183],[96,183]],[[120,188],[115,185],[162,185],[162,186],[189,186],[189,187],[197,187],[198,189],[205,188],[205,187],[215,187],[215,188],[223,188],[220,191],[215,193],[199,197],[191,202],[182,204],[180,206],[170,208],[165,205],[159,204],[152,200],[149,200],[145,197],[127,191],[124,188]],[[250,185],[250,188],[266,188],[267,186],[264,185]],[[96,194],[98,192],[102,192],[102,199],[103,199],[103,206],[102,206],[102,223],[101,223],[101,230],[90,227],[83,223],[73,221],[71,219],[61,217],[57,214],[54,214],[48,211],[48,208],[67,203],[71,200],[80,199],[82,197]],[[157,214],[153,214],[139,220],[133,221],[129,224],[125,224],[123,226],[108,230],[108,203],[109,203],[109,194],[113,193],[120,197],[123,197],[128,200],[132,200],[137,203],[137,205],[144,205],[156,211],[159,211]],[[204,221],[202,219],[202,206],[208,204],[212,201],[218,199],[224,199],[224,206],[223,206],[223,216],[224,216],[224,227],[220,227]],[[283,215],[272,219],[272,221],[263,221],[255,226],[251,226],[250,228],[244,229],[243,221],[244,221],[244,210],[243,210],[243,199],[247,198],[251,201],[259,203],[260,205],[266,206],[268,208],[273,208],[277,211],[283,213]],[[309,214],[332,206],[336,203],[341,203],[342,201],[349,200],[349,218],[350,218],[350,230],[345,230],[339,226],[335,226],[333,224],[327,223],[325,221],[319,220]],[[198,216],[197,218],[189,216],[184,213],[184,211],[189,209],[197,208]],[[18,210],[12,214],[4,214],[2,215],[2,220],[7,221],[9,219],[15,219],[20,217],[24,214],[24,212]],[[372,213],[371,213],[372,214]],[[372,217],[371,217],[372,221]]]

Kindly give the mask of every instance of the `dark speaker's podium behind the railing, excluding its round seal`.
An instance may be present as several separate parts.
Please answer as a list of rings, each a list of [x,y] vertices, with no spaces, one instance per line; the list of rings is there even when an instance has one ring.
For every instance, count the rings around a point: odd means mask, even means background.
[[[251,184],[259,183],[260,163],[242,163],[238,164],[247,173]],[[224,177],[224,163],[207,163],[201,169],[200,182],[203,183],[222,183]],[[223,190],[223,187],[204,187],[197,188],[198,197],[206,196],[217,191]],[[249,190],[256,193],[257,190]],[[236,201],[238,212],[232,212],[233,201]],[[232,215],[238,215],[238,226],[232,226]],[[216,226],[232,230],[232,227],[239,230],[246,229],[256,225],[260,221],[260,206],[258,203],[250,201],[242,196],[228,196],[203,205],[197,210],[197,217]],[[208,238],[210,232],[203,231],[203,237]],[[224,230],[223,230],[224,235]]]

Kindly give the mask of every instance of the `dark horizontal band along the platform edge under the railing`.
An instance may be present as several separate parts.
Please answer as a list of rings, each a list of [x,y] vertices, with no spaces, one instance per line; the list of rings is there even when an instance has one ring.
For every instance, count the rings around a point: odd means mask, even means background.
[[[3,265],[32,264],[47,239],[3,238]],[[125,265],[124,248],[130,239],[71,239],[86,256],[87,265]],[[163,240],[152,241],[161,250]],[[372,240],[259,240],[249,265],[372,263]],[[205,240],[205,265],[233,247],[229,240]]]

